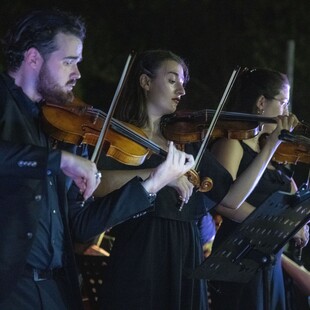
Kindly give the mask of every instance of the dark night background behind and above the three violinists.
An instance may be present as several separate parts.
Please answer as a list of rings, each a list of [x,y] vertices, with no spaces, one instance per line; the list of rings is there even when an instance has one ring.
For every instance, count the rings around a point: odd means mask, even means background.
[[[216,108],[237,65],[269,67],[289,75],[292,111],[300,120],[310,118],[309,0],[2,0],[0,36],[25,12],[51,7],[86,21],[76,95],[88,104],[107,110],[131,50],[163,48],[190,68],[180,108]],[[306,181],[308,166],[297,165],[298,185]]]

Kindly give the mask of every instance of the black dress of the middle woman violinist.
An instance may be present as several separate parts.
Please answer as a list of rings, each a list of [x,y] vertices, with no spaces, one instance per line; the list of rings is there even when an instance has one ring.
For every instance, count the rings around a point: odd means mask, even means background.
[[[187,152],[195,154],[194,147]],[[99,163],[108,169],[156,167],[162,159],[152,156],[140,167]],[[183,210],[171,187],[159,191],[154,212],[131,219],[113,229],[115,242],[104,275],[102,309],[207,309],[206,281],[191,273],[203,260],[197,221],[227,193],[229,173],[206,153],[201,176],[209,176],[214,188],[196,192]],[[126,206],[124,206],[126,208]]]

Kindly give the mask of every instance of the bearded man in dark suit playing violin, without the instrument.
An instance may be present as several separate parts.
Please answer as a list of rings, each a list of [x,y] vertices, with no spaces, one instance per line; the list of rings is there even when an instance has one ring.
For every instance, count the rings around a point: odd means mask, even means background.
[[[1,309],[82,309],[71,236],[86,241],[151,210],[156,192],[193,165],[191,155],[170,143],[166,160],[144,181],[135,177],[105,197],[88,199],[101,175],[79,156],[87,155],[86,146],[52,148],[40,121],[44,101],[72,101],[84,37],[79,17],[54,10],[30,13],[3,40]]]

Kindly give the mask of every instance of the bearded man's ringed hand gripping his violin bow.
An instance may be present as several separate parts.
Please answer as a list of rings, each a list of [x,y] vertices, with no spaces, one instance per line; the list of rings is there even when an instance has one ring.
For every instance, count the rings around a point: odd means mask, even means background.
[[[84,157],[62,151],[60,168],[78,186],[85,200],[100,183],[96,164]]]

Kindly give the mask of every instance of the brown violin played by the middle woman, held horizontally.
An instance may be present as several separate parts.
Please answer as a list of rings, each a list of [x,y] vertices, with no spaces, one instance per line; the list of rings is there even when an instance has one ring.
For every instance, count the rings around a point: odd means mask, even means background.
[[[162,134],[167,140],[178,144],[199,142],[206,135],[210,124],[209,119],[212,119],[213,115],[214,110],[177,111],[166,115],[161,120]],[[261,131],[264,123],[276,122],[276,119],[272,117],[222,111],[212,132],[212,137],[250,139]]]

